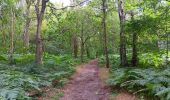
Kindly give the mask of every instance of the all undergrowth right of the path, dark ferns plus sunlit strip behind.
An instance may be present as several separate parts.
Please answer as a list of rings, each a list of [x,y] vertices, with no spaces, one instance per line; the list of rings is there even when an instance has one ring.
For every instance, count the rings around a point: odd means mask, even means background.
[[[120,56],[110,54],[111,73],[107,83],[111,87],[126,89],[147,100],[170,100],[170,55],[165,52],[140,53],[137,67],[130,67],[131,54],[127,54],[129,66],[119,67]],[[105,57],[99,58],[105,64]]]

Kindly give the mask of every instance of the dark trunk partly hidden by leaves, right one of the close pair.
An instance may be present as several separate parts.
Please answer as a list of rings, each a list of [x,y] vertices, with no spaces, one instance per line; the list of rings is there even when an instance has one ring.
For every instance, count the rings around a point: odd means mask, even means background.
[[[131,12],[131,21],[134,21],[134,14]],[[132,36],[132,66],[136,67],[138,64],[138,54],[137,54],[137,33],[136,31],[133,32]]]

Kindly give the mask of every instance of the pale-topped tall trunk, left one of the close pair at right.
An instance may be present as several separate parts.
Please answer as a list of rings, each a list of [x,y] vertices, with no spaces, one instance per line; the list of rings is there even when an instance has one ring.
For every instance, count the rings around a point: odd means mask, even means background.
[[[126,56],[126,38],[124,33],[125,13],[123,8],[123,0],[118,0],[118,13],[120,19],[120,65],[126,66],[128,63]]]

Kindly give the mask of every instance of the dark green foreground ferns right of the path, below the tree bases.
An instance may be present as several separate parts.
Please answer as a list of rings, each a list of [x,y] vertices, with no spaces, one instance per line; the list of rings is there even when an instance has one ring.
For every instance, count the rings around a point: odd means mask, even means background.
[[[170,100],[170,67],[164,69],[114,68],[107,81],[149,100]]]

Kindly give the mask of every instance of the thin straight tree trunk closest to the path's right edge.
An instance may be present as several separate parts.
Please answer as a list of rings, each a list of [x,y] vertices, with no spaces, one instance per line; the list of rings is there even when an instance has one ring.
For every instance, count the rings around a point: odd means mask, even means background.
[[[106,17],[107,17],[107,1],[103,1],[103,34],[104,34],[104,52],[105,52],[105,57],[106,57],[106,67],[109,68],[109,56],[108,56],[108,48],[107,48],[107,29],[106,29]]]

